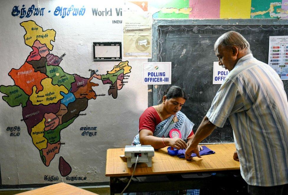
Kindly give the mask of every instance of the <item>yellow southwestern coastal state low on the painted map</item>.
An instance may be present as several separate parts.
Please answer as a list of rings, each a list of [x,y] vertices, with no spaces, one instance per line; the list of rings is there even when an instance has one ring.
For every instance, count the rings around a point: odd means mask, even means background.
[[[44,128],[45,128],[45,118],[32,127],[31,137],[33,144],[38,148],[38,150],[42,150],[43,148],[47,148],[47,139],[44,136]]]

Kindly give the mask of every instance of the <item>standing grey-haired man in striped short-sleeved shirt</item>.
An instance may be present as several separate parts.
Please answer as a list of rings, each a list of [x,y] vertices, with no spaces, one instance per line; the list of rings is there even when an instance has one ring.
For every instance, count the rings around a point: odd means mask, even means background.
[[[249,43],[238,32],[221,35],[214,50],[219,65],[230,72],[187,143],[186,159],[192,152],[201,158],[199,142],[229,118],[248,192],[288,194],[288,102],[283,82],[252,56]]]

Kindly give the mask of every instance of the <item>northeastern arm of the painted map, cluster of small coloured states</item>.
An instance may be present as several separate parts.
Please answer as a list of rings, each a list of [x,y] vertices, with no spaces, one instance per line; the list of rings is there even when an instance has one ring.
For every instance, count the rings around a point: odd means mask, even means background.
[[[118,96],[118,90],[121,90],[123,85],[123,79],[126,74],[130,73],[131,66],[128,65],[128,61],[120,62],[111,71],[107,71],[107,74],[93,74],[92,77],[102,80],[103,84],[110,84],[108,95],[112,95],[114,99]]]

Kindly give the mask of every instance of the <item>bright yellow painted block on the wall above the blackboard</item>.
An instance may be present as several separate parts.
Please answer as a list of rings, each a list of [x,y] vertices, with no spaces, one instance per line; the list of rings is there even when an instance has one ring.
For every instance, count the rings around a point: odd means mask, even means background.
[[[220,0],[220,18],[248,19],[251,13],[251,0]]]

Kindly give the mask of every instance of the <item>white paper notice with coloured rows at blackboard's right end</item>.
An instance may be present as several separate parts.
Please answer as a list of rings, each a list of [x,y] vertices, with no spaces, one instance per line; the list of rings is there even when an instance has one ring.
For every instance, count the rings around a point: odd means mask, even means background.
[[[288,36],[269,37],[268,64],[282,80],[288,80]]]

